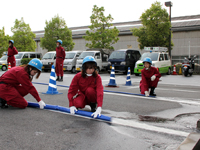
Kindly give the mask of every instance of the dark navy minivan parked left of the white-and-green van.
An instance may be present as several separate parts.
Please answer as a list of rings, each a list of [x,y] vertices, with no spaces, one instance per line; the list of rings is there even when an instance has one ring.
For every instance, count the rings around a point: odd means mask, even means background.
[[[115,72],[123,72],[126,74],[128,67],[131,71],[134,70],[135,63],[140,58],[139,50],[134,49],[120,49],[112,52],[108,59],[108,72],[110,73],[112,65],[115,67]]]

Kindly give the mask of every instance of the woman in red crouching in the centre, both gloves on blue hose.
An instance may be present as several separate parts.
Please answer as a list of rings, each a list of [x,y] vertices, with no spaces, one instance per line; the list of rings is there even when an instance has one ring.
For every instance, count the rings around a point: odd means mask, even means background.
[[[84,108],[85,105],[90,105],[91,112],[94,112],[92,116],[94,118],[101,116],[103,85],[96,68],[97,63],[94,57],[86,56],[83,59],[82,71],[74,76],[68,90],[71,114],[74,114],[77,108]]]

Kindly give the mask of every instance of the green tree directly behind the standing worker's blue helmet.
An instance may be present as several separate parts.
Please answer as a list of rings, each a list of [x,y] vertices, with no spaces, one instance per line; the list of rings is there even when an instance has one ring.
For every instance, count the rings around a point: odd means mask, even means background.
[[[62,40],[65,50],[70,51],[74,48],[72,31],[67,28],[65,20],[57,15],[49,22],[46,21],[45,34],[40,38],[40,46],[48,51],[55,51],[58,39]]]

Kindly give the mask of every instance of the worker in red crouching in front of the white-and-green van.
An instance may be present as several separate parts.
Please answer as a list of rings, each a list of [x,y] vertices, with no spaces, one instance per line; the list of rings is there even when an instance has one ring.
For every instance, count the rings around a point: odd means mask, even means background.
[[[155,88],[158,85],[159,78],[161,77],[161,74],[159,71],[152,67],[152,61],[151,58],[145,58],[143,60],[144,69],[142,69],[142,80],[140,81],[140,91],[141,94],[145,94],[145,96],[156,96],[154,93]],[[149,88],[151,89],[149,93]]]

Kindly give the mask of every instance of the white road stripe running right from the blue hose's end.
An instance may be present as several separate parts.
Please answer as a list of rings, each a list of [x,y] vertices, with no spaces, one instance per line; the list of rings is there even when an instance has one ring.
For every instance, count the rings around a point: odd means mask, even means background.
[[[112,123],[117,124],[117,125],[129,126],[133,128],[145,129],[149,131],[172,134],[172,135],[177,135],[177,136],[187,137],[189,135],[189,133],[187,132],[162,128],[162,127],[156,127],[156,126],[145,124],[143,122],[138,122],[136,120],[124,120],[124,119],[119,119],[119,118],[112,118]]]

